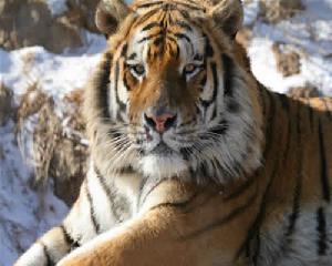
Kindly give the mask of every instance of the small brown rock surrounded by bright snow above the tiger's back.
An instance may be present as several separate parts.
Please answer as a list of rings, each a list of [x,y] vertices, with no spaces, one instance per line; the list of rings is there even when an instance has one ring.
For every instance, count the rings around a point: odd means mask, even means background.
[[[289,45],[274,43],[272,51],[277,61],[277,70],[283,76],[299,74],[301,72],[300,55]]]

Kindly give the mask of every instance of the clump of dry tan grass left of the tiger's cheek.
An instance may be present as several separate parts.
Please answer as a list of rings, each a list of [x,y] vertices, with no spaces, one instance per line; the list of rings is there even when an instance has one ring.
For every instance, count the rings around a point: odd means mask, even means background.
[[[89,151],[86,144],[82,144],[85,131],[80,111],[82,91],[70,93],[64,101],[68,109],[63,119],[56,115],[53,99],[42,91],[38,82],[30,84],[18,109],[17,134],[22,153],[27,157],[29,153],[32,156],[33,186],[44,186],[52,177],[55,195],[71,205],[86,173]]]

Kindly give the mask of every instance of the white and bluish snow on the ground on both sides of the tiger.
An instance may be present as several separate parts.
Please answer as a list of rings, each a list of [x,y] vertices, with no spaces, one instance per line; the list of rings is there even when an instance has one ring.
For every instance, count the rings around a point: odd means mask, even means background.
[[[62,1],[49,2],[54,13],[63,9]],[[257,3],[249,4],[246,23],[256,23],[249,47],[252,69],[272,90],[287,92],[291,86],[310,82],[322,93],[332,95],[332,0],[303,2],[304,12],[278,24],[260,22]],[[0,49],[0,82],[13,91],[17,104],[29,84],[38,81],[45,93],[53,96],[61,115],[64,94],[84,86],[105,47],[103,37],[84,34],[84,48],[61,55],[40,47],[12,52]],[[300,74],[284,79],[277,72],[271,51],[274,41],[290,43],[301,51]],[[0,127],[0,266],[12,265],[22,249],[68,212],[52,194],[52,184],[44,192],[37,192],[29,185],[32,170],[21,156],[13,129],[12,121]]]

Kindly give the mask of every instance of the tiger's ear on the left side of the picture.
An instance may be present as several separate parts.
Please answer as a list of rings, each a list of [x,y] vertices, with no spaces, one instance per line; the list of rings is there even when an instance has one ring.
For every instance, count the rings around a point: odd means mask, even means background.
[[[131,9],[122,0],[102,0],[96,9],[95,24],[102,33],[111,35],[129,13]]]

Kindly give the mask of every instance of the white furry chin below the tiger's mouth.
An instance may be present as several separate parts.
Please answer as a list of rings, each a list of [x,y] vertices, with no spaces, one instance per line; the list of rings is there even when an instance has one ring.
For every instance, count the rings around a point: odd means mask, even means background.
[[[142,174],[149,178],[184,178],[189,165],[177,153],[151,153],[141,158],[139,168]]]

